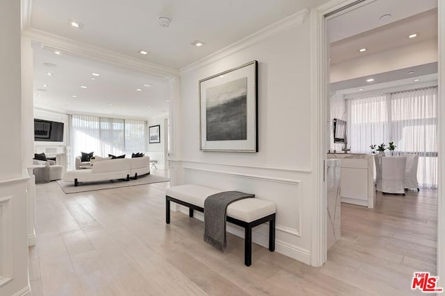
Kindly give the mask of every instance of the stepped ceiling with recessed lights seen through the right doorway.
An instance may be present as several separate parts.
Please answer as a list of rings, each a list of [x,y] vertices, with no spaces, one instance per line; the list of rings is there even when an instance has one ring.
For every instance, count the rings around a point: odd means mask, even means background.
[[[403,7],[403,9],[401,9]],[[382,53],[401,48],[416,42],[437,40],[437,0],[376,0],[366,5],[358,5],[347,13],[339,13],[327,20],[328,40],[330,40],[330,64],[342,64],[348,67],[348,60],[357,60],[367,55]],[[390,15],[389,17],[381,17]],[[407,35],[417,33],[415,38]],[[358,49],[366,48],[360,53]],[[366,64],[363,64],[366,67]],[[437,63],[415,65],[385,73],[375,73],[374,82],[365,82],[362,77],[335,82],[330,85],[331,91],[348,89],[346,92],[357,92],[366,84],[367,89],[373,84],[385,86],[406,82],[415,78],[437,79]],[[408,79],[408,80],[407,80]]]

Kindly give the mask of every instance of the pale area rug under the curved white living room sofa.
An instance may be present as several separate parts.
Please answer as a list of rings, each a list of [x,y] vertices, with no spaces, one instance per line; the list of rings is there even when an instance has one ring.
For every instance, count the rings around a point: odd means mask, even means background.
[[[138,177],[137,180],[130,179],[128,182],[124,180],[113,180],[113,181],[101,181],[101,182],[85,182],[79,184],[79,186],[74,186],[74,182],[65,182],[63,180],[57,180],[57,184],[65,193],[79,193],[86,191],[95,191],[103,189],[112,189],[136,185],[145,185],[150,183],[168,182],[170,179],[168,177],[161,177],[156,175],[143,175]]]

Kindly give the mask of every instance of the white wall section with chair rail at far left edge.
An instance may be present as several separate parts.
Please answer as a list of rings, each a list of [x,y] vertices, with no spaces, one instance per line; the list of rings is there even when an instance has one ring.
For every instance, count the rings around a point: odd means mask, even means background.
[[[22,165],[20,1],[0,1],[0,295],[26,295],[28,234]],[[6,145],[7,143],[7,145]]]

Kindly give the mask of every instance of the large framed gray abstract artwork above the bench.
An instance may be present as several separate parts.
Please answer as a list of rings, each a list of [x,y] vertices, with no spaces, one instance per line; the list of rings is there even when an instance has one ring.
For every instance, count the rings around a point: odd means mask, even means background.
[[[200,150],[258,152],[257,64],[200,80]]]

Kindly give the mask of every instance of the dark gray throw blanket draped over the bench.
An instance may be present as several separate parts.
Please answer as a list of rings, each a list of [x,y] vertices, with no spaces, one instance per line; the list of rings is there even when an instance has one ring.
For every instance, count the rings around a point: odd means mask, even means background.
[[[227,206],[232,202],[236,202],[236,200],[254,197],[254,194],[225,191],[206,198],[204,200],[204,241],[223,251],[227,246],[225,235]]]

